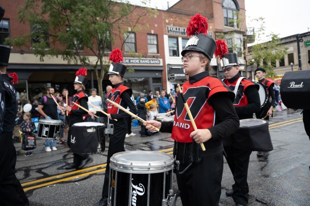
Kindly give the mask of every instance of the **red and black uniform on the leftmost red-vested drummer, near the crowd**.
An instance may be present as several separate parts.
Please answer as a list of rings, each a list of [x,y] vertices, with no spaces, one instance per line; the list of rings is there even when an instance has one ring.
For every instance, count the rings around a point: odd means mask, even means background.
[[[71,111],[68,111],[68,116],[67,116],[67,122],[68,122],[68,139],[67,139],[67,145],[70,147],[71,145],[71,129],[72,129],[72,125],[75,123],[79,123],[79,122],[83,122],[83,115],[87,114],[86,111],[80,109],[78,106],[76,106],[75,104],[78,104],[80,106],[82,106],[85,109],[88,109],[88,97],[87,95],[84,93],[83,90],[79,90],[76,92],[76,94],[74,94],[72,96],[71,99]],[[75,104],[73,104],[72,102],[74,102]],[[79,164],[81,163],[82,160],[85,160],[88,158],[89,155],[86,154],[76,154],[73,153],[73,164],[76,166],[79,166]]]

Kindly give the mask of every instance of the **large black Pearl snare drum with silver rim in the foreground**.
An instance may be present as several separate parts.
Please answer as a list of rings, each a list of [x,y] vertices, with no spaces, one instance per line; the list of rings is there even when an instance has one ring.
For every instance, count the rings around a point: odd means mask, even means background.
[[[162,206],[173,192],[172,170],[173,158],[165,153],[114,154],[110,159],[109,206]]]

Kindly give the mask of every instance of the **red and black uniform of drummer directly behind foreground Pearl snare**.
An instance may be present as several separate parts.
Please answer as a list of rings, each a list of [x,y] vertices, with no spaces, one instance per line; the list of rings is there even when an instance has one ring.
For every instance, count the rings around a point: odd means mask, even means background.
[[[136,107],[131,101],[130,97],[132,95],[132,90],[122,83],[115,85],[113,89],[107,94],[107,98],[113,102],[116,102],[123,108],[129,107],[129,111],[133,114],[137,114]],[[126,118],[129,117],[127,113],[118,109],[116,106],[112,105],[110,102],[107,104],[107,113],[111,115],[112,119],[109,119],[109,123],[113,124],[113,134],[109,136],[109,146],[107,152],[106,169],[104,175],[104,183],[102,189],[102,198],[107,198],[108,195],[108,179],[109,179],[109,164],[110,158],[117,152],[124,152],[124,141],[127,133],[127,123]],[[105,116],[101,112],[97,112],[98,116]],[[113,119],[117,119],[117,122]]]

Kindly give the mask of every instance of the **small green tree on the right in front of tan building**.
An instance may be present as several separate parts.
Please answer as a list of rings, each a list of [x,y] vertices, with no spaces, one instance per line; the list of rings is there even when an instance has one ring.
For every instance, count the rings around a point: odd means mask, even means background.
[[[249,47],[252,63],[257,67],[263,67],[266,70],[266,77],[273,78],[276,76],[273,68],[275,67],[276,60],[282,59],[287,48],[281,45],[280,38],[277,34],[270,33],[265,35],[264,18],[260,17],[253,19],[256,25],[259,25],[255,33],[255,41],[261,42],[265,36],[270,39],[263,43],[256,43]]]

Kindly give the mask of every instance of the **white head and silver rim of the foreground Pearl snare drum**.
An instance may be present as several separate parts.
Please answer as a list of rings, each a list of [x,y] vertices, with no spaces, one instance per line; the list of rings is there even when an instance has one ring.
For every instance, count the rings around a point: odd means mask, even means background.
[[[170,155],[153,151],[119,152],[111,157],[110,162],[110,168],[124,173],[150,174],[173,168]]]

